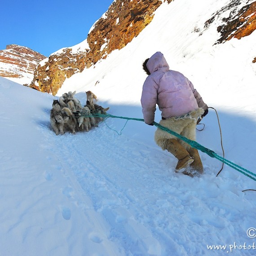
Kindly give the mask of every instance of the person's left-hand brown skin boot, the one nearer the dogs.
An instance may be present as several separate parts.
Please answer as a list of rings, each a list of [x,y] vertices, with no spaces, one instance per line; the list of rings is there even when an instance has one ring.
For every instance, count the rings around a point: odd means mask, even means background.
[[[169,139],[165,142],[165,148],[172,153],[179,161],[175,168],[175,172],[180,172],[193,163],[194,159],[189,152],[176,139]]]

